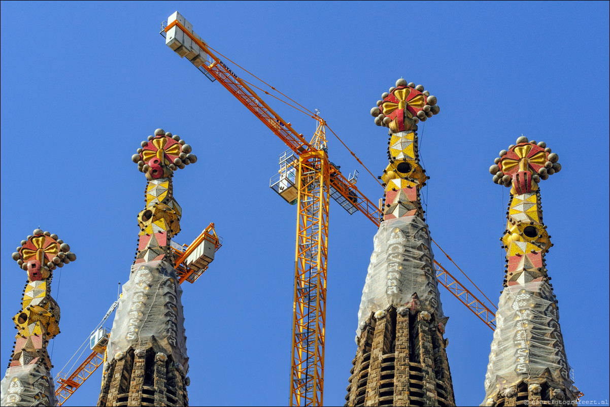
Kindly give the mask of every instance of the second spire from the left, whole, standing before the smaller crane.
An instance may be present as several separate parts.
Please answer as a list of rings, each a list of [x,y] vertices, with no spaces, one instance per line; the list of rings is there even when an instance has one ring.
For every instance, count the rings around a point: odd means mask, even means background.
[[[182,215],[171,180],[177,168],[196,162],[190,152],[178,135],[157,129],[132,157],[148,180],[146,207],[138,214],[138,250],[110,332],[98,406],[188,405],[182,289],[170,245]]]

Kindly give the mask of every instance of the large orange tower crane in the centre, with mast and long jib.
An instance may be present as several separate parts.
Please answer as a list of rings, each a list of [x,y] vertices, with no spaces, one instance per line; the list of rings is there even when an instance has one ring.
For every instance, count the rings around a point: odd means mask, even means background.
[[[271,90],[307,112],[237,76],[220,59],[219,56],[223,55],[207,45],[180,13],[174,12],[168,21],[163,21],[160,34],[165,37],[165,44],[176,54],[186,57],[210,81],[218,81],[223,85],[288,147],[287,152],[280,156],[279,176],[271,179],[270,186],[282,198],[295,204],[297,211],[290,405],[321,406],[324,389],[329,201],[330,198],[337,201],[350,215],[361,212],[377,227],[381,209],[357,189],[356,173],[346,178],[340,173],[339,167],[329,161],[326,129],[336,134],[317,113],[310,112],[253,74]],[[248,72],[245,68],[240,68]],[[318,122],[314,137],[308,142],[303,134],[296,132],[288,121],[274,112],[251,86],[314,118]],[[357,159],[351,150],[350,153]],[[493,330],[493,311],[439,262],[435,261],[435,264],[440,283]],[[491,301],[490,303],[493,306]]]

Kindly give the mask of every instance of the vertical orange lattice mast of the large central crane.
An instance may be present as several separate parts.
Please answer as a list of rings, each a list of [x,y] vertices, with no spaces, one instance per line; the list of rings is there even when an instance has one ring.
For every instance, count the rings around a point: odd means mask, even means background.
[[[324,390],[326,266],[330,165],[325,122],[312,139],[317,151],[298,160],[295,292],[290,405],[321,406]]]

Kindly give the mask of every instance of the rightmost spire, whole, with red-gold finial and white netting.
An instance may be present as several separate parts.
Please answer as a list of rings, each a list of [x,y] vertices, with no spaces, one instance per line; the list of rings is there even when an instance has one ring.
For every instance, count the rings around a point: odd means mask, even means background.
[[[570,380],[558,301],[545,264],[552,245],[538,184],[561,170],[558,159],[546,143],[522,136],[489,168],[493,182],[511,188],[511,200],[500,239],[506,250],[504,289],[482,406],[572,404],[580,394]]]

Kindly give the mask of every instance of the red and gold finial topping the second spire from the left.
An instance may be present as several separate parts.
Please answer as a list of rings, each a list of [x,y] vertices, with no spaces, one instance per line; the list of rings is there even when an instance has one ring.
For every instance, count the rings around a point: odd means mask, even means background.
[[[148,136],[148,141],[141,143],[137,154],[131,159],[138,164],[138,170],[146,174],[151,181],[157,178],[167,178],[177,168],[197,161],[197,156],[191,154],[192,148],[179,135],[172,135],[163,129],[156,129],[154,135]]]

